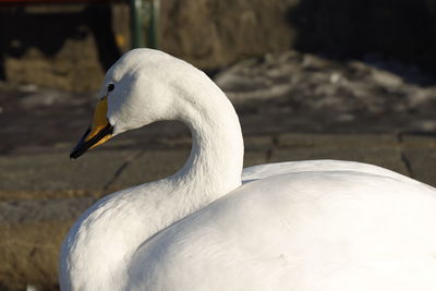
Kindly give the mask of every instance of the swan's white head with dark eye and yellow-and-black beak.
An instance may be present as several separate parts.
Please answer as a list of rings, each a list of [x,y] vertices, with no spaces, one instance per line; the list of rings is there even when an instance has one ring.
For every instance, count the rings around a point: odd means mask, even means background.
[[[112,136],[159,120],[181,120],[186,83],[206,75],[191,64],[153,49],[134,49],[106,73],[94,120],[70,154],[75,159]],[[206,77],[207,78],[207,77]],[[192,101],[187,101],[191,102]]]

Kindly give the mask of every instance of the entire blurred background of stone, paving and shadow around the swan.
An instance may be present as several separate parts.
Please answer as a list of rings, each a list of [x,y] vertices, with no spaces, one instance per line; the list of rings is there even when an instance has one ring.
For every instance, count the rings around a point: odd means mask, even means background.
[[[189,131],[161,122],[68,159],[136,47],[225,90],[245,166],[349,159],[436,184],[436,0],[0,0],[0,290],[56,290],[76,217],[187,157]]]

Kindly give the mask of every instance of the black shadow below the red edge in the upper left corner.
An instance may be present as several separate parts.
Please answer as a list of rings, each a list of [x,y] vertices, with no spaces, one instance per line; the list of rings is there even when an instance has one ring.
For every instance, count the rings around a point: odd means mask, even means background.
[[[44,10],[43,10],[44,11]],[[83,39],[90,32],[106,71],[121,56],[112,32],[110,5],[95,4],[73,12],[26,12],[24,5],[0,7],[0,80],[4,60],[21,58],[34,47],[46,57],[59,52],[68,39]]]

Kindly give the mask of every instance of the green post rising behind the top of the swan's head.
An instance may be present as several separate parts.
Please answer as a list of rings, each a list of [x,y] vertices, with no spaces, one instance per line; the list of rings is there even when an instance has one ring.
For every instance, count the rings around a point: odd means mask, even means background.
[[[130,0],[130,9],[132,48],[158,48],[160,1]]]

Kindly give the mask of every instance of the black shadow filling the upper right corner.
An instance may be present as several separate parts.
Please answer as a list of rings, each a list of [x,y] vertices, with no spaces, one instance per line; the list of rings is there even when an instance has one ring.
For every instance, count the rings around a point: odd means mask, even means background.
[[[287,17],[301,51],[363,60],[419,85],[435,83],[436,0],[304,0]]]

